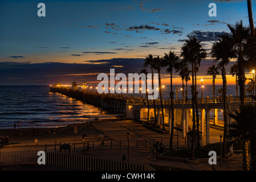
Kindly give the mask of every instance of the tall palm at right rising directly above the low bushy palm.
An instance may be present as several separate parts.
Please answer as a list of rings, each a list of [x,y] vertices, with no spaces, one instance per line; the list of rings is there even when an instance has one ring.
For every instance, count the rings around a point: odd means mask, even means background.
[[[238,65],[238,85],[240,90],[240,101],[241,104],[245,104],[246,101],[246,89],[245,89],[245,67],[246,67],[246,43],[249,38],[250,28],[243,27],[242,20],[235,23],[234,26],[227,24],[231,31],[231,38],[233,40],[233,50],[237,57]]]

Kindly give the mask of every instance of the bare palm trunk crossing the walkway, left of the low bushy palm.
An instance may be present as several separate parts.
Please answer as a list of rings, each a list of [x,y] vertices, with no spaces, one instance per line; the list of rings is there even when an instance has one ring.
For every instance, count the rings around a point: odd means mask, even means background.
[[[222,75],[222,86],[223,86],[223,99],[224,99],[224,155],[226,154],[226,136],[227,136],[227,80],[226,80],[226,68],[222,67],[221,69],[221,75]]]

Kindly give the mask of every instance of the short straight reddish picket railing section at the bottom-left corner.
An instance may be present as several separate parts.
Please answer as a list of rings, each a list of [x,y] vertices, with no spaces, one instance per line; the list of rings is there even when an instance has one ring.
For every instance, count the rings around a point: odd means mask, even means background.
[[[38,151],[0,152],[0,166],[36,164]]]

